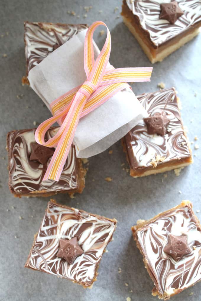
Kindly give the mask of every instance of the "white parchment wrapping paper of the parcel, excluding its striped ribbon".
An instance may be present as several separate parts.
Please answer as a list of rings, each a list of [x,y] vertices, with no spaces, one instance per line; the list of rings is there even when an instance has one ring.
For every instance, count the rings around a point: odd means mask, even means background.
[[[33,90],[49,104],[86,80],[84,39],[86,30],[49,54],[29,72]],[[99,48],[94,43],[95,58]],[[130,88],[118,92],[93,112],[80,119],[74,136],[77,157],[91,157],[105,151],[121,139],[146,111]]]

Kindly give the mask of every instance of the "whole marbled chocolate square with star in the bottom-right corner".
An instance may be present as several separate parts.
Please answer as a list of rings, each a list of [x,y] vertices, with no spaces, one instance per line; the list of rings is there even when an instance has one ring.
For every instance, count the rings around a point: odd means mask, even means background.
[[[201,225],[190,201],[131,229],[155,285],[153,296],[168,300],[201,280]]]

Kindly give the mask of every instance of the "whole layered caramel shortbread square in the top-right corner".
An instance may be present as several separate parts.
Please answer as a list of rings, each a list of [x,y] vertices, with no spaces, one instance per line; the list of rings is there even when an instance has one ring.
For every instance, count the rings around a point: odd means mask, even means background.
[[[123,21],[151,61],[193,39],[201,26],[201,6],[194,0],[123,0]]]

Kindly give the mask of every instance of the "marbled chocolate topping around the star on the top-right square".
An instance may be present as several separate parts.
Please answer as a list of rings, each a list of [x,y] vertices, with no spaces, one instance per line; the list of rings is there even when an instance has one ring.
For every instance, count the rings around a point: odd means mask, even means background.
[[[159,19],[160,4],[170,0],[126,0],[127,6],[140,20],[144,30],[149,33],[151,41],[159,46],[178,34],[201,22],[201,0],[177,0],[184,14],[174,24]],[[200,24],[201,25],[201,24]]]

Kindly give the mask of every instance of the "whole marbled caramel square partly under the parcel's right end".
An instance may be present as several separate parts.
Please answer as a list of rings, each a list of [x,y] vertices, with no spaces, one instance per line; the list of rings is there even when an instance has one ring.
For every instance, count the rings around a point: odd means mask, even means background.
[[[181,168],[193,162],[174,88],[137,96],[149,114],[123,139],[134,178]]]

